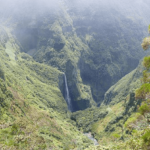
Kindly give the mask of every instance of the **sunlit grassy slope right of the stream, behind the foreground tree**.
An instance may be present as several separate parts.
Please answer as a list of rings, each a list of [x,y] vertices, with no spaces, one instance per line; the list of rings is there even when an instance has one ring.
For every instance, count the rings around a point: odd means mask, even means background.
[[[100,108],[73,113],[72,119],[76,120],[78,127],[91,131],[104,146],[111,147],[120,138],[127,140],[128,131],[124,124],[140,105],[140,101],[134,98],[134,92],[141,85],[142,71],[143,67],[139,64],[137,69],[113,85],[106,92]]]

